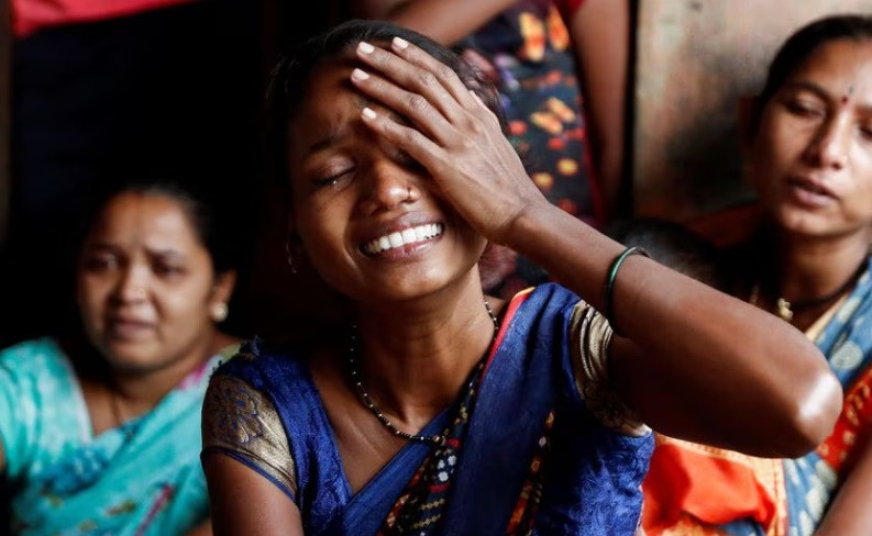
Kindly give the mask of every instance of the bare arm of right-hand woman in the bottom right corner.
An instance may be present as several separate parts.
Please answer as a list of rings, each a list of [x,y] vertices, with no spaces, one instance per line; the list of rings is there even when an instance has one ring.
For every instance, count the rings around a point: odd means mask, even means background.
[[[829,506],[817,536],[860,536],[872,526],[872,440],[863,448],[860,459],[842,483]]]

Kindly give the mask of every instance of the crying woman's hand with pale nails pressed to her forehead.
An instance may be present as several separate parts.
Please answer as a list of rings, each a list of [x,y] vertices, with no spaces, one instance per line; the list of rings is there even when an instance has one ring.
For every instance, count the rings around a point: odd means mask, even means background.
[[[485,237],[504,243],[511,225],[547,203],[499,120],[456,72],[421,48],[395,37],[390,48],[361,43],[352,82],[369,99],[407,118],[364,108],[361,118],[433,177],[437,189]]]

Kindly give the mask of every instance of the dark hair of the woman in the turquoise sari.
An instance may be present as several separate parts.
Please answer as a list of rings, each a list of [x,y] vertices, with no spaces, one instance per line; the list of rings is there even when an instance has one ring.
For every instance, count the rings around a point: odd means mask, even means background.
[[[216,275],[236,268],[239,239],[231,222],[218,216],[221,208],[217,189],[167,172],[142,172],[122,183],[102,189],[93,197],[90,216],[79,231],[79,249],[106,206],[120,196],[133,193],[167,198],[177,202],[191,224],[195,236],[209,253]]]

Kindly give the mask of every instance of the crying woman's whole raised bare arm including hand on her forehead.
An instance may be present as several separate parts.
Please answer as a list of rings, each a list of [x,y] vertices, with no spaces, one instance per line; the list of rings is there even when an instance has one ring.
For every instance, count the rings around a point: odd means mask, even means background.
[[[353,82],[413,126],[369,109],[362,121],[424,166],[484,236],[605,310],[606,273],[622,246],[542,197],[496,116],[451,69],[413,45],[367,51],[357,56],[378,76]],[[637,256],[620,270],[614,303],[627,335],[611,348],[614,381],[652,427],[773,457],[798,456],[829,434],[841,387],[787,323]]]

